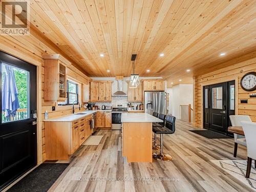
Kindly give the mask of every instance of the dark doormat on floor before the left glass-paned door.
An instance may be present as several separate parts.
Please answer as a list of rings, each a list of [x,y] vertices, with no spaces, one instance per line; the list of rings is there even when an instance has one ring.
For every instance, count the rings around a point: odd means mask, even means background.
[[[42,163],[8,192],[46,192],[69,166],[69,163]]]

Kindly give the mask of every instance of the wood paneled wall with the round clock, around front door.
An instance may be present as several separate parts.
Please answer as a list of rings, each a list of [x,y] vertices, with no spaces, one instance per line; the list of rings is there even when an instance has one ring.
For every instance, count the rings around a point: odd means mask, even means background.
[[[236,60],[234,60],[234,63],[236,63]],[[231,80],[236,81],[236,114],[249,115],[252,121],[256,121],[256,98],[249,97],[250,93],[256,93],[256,91],[246,92],[240,86],[240,80],[243,75],[251,71],[256,72],[256,57],[195,77],[194,124],[198,127],[203,127],[203,86]],[[248,103],[241,103],[240,99],[248,99]]]

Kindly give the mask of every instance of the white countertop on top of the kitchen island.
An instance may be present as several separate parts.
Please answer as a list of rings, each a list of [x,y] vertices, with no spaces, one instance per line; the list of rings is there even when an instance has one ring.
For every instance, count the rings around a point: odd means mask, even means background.
[[[121,122],[163,122],[147,113],[122,113]]]

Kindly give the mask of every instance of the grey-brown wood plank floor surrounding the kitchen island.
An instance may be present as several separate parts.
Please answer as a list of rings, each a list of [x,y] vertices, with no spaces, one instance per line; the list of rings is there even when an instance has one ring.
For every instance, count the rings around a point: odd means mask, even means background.
[[[245,160],[246,148],[240,145],[234,158],[233,139],[207,139],[193,129],[177,120],[175,134],[164,136],[164,152],[173,160],[153,163],[127,163],[119,131],[100,130],[100,144],[82,145],[49,191],[253,191],[210,161]]]

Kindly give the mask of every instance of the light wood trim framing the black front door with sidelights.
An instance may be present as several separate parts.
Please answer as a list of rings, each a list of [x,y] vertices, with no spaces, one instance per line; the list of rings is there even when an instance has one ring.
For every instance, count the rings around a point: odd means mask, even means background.
[[[234,113],[236,115],[238,115],[238,89],[239,89],[239,79],[238,79],[238,76],[236,77],[226,77],[226,78],[223,78],[223,79],[213,79],[213,80],[209,80],[207,82],[203,82],[201,83],[201,124],[197,124],[197,126],[199,126],[200,128],[203,129],[204,127],[204,120],[203,120],[203,97],[204,97],[204,94],[203,94],[203,89],[204,89],[204,86],[210,86],[211,84],[217,84],[217,83],[223,83],[223,82],[228,82],[228,81],[234,81],[234,90],[235,90],[235,111]],[[194,86],[195,86],[195,83],[194,83]],[[194,94],[194,96],[196,96]],[[194,118],[194,121],[195,121],[195,118]]]

